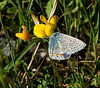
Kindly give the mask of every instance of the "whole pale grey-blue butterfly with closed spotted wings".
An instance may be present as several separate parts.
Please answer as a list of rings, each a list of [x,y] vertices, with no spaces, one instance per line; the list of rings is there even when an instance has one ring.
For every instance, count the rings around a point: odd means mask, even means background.
[[[77,38],[55,32],[49,38],[48,52],[51,59],[66,60],[85,46],[86,44]]]

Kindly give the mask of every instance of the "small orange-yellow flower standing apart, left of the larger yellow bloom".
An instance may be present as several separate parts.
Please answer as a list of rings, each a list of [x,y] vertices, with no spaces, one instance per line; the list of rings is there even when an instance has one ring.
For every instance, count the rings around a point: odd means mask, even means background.
[[[22,25],[23,28],[23,32],[22,33],[16,33],[15,36],[26,41],[26,40],[30,40],[32,35],[27,33],[26,27],[24,25]]]

